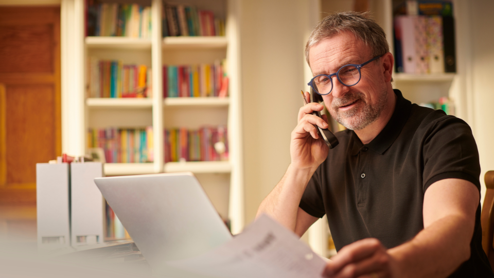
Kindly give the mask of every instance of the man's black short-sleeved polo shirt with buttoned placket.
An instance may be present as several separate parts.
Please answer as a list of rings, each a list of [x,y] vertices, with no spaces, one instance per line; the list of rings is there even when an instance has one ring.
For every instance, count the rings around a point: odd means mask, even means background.
[[[367,237],[386,248],[412,239],[424,229],[424,194],[436,181],[467,180],[480,195],[479,153],[465,121],[395,94],[393,116],[372,142],[362,144],[352,130],[336,133],[340,144],[329,150],[299,204],[312,216],[327,215],[337,250]],[[451,277],[494,277],[482,249],[480,212],[479,203],[471,257]]]

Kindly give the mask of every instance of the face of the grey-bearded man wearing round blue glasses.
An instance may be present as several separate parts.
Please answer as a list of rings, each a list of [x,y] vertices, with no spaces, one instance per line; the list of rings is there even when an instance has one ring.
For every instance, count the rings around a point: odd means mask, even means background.
[[[353,33],[344,32],[313,45],[309,61],[313,76],[333,74],[347,64],[362,64],[371,57],[371,50]],[[345,86],[332,77],[333,89],[323,96],[331,116],[348,129],[361,130],[382,113],[387,101],[381,59],[361,68],[361,78],[354,86]]]

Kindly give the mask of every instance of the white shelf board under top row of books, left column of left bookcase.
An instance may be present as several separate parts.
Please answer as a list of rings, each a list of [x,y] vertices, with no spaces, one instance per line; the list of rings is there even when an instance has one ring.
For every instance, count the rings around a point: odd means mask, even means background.
[[[127,37],[86,37],[89,48],[151,49],[151,39]]]

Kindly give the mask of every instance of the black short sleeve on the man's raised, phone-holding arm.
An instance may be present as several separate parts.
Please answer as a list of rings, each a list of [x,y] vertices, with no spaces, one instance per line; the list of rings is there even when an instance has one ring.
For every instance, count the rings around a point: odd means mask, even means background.
[[[304,194],[302,195],[300,204],[298,205],[306,213],[319,218],[326,214],[321,194],[321,167],[323,164],[317,167],[317,170],[310,178]]]

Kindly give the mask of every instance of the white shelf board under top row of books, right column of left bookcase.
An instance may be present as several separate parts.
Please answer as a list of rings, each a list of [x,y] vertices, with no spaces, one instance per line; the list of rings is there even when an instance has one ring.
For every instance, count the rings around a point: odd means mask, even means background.
[[[183,48],[226,48],[226,37],[166,37],[163,39],[164,49]]]

